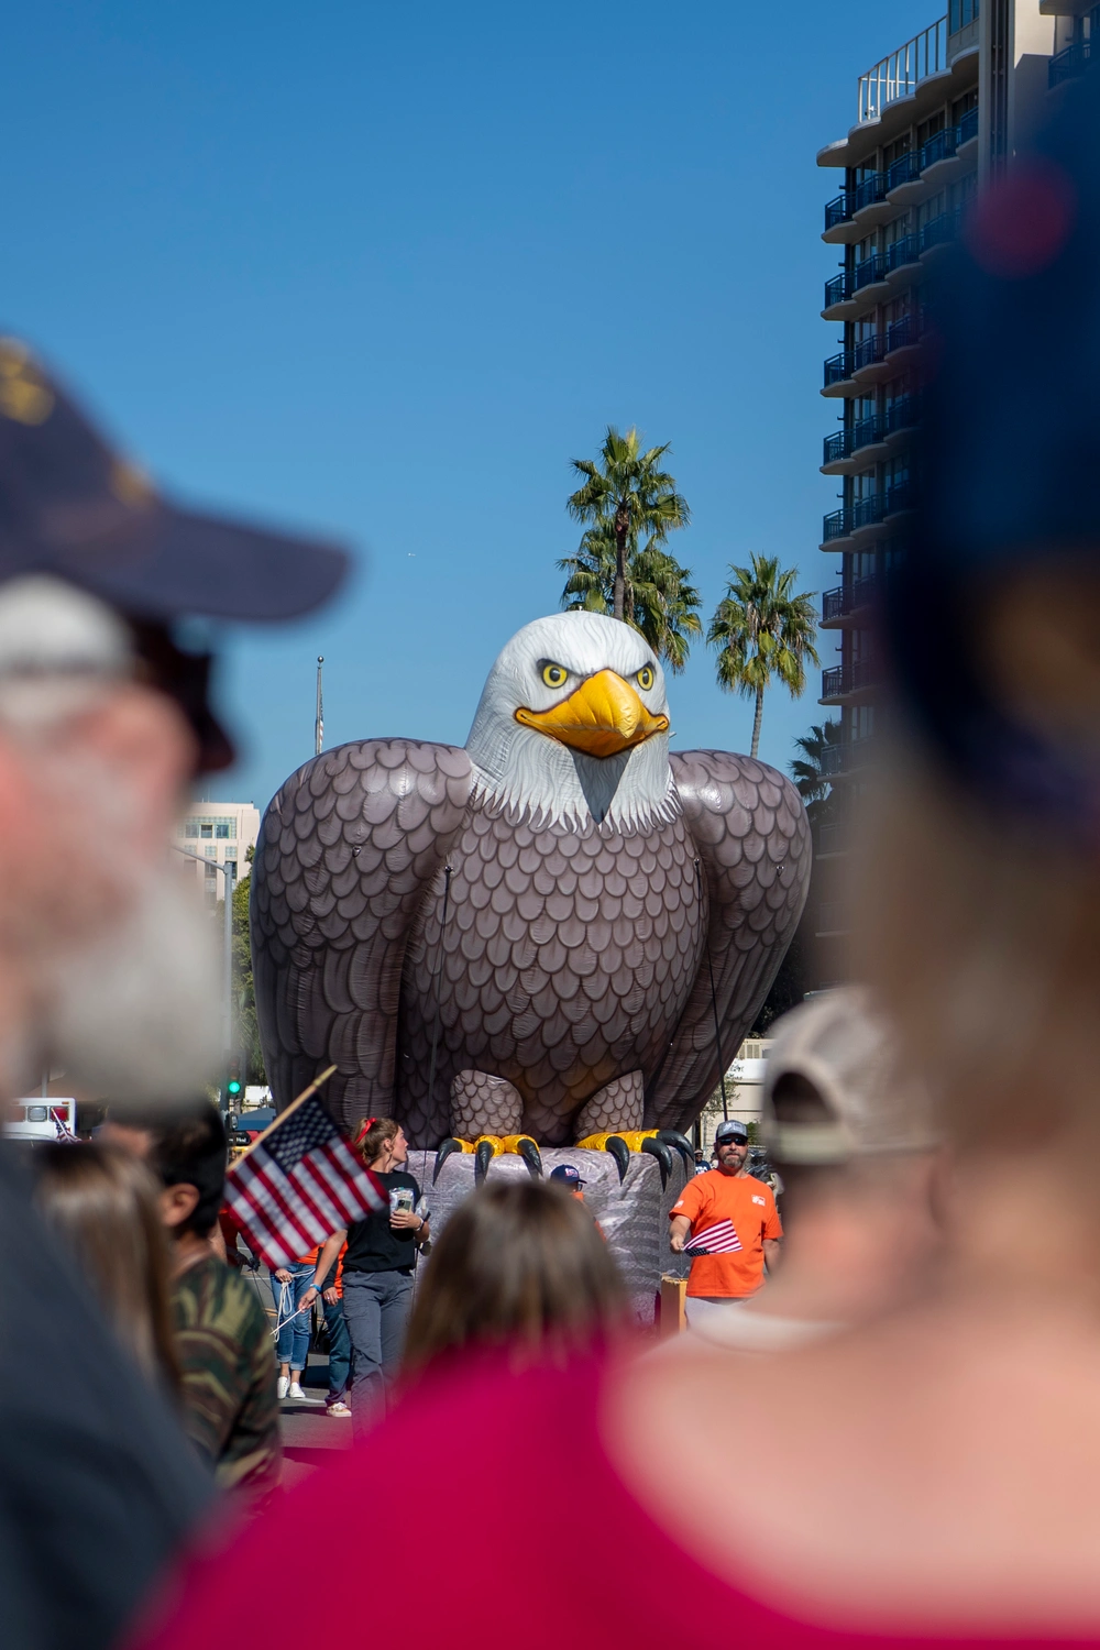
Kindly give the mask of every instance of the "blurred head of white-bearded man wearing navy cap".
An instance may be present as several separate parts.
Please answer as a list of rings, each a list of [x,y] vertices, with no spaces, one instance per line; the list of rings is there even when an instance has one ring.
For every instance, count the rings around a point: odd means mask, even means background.
[[[221,1049],[209,927],[167,851],[233,746],[188,615],[307,612],[345,558],[168,503],[0,337],[0,1081],[172,1094]],[[214,1036],[214,1041],[211,1041]]]

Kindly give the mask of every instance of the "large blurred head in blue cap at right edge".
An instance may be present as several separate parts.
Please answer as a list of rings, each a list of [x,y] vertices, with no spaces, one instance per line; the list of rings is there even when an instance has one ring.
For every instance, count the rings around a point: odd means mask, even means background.
[[[1057,1147],[1072,1176],[1100,1148],[1092,79],[978,198],[927,378],[920,510],[884,620],[904,744],[866,974],[963,1155]]]

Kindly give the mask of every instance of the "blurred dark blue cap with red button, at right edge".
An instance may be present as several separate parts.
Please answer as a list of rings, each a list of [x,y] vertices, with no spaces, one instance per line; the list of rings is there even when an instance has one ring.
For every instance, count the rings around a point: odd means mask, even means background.
[[[937,284],[917,515],[886,652],[919,731],[968,789],[1095,842],[1100,776],[996,701],[975,647],[983,578],[1100,569],[1100,79],[970,206]]]

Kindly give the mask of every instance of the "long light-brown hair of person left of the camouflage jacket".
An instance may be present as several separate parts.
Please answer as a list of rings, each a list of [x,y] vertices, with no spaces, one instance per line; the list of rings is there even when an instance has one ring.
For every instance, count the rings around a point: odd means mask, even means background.
[[[35,1196],[122,1345],[150,1379],[178,1383],[160,1186],[130,1152],[41,1145]]]

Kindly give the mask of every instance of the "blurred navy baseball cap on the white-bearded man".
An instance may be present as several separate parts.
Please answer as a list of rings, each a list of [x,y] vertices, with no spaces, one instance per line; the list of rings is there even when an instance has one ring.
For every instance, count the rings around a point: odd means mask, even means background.
[[[148,620],[292,619],[348,571],[335,544],[181,510],[0,335],[0,581],[53,574]]]

